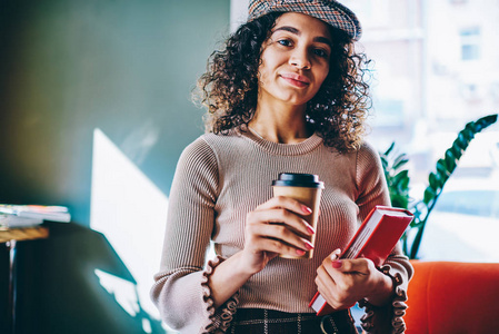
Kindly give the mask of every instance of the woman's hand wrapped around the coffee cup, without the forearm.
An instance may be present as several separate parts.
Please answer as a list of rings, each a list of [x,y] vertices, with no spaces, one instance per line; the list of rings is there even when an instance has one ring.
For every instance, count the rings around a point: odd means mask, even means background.
[[[315,230],[301,217],[311,213],[309,207],[283,196],[273,197],[248,213],[241,254],[244,266],[255,274],[279,254],[300,256],[312,249],[303,236],[311,236]]]

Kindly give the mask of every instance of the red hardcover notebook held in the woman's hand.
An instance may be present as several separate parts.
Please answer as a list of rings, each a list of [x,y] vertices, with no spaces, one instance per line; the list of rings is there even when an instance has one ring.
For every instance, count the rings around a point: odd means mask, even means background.
[[[412,214],[402,208],[376,206],[360,225],[340,258],[366,257],[381,266],[412,222]],[[326,315],[337,310],[316,293],[309,304],[317,315]]]

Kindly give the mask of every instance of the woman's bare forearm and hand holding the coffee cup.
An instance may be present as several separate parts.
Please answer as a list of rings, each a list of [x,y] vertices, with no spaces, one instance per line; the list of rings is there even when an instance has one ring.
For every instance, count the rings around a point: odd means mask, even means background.
[[[273,197],[248,213],[244,248],[220,263],[210,276],[214,307],[222,305],[279,254],[303,255],[313,248],[302,237],[315,233],[301,217],[311,213],[310,208],[289,197]]]

